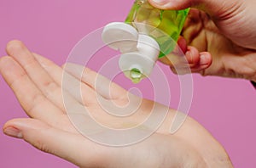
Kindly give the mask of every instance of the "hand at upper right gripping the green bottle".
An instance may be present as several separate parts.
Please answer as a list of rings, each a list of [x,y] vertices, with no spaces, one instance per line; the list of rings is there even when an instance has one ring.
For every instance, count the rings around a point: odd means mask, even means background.
[[[255,1],[148,1],[164,9],[192,7],[182,33],[190,45],[185,55],[192,72],[256,81]],[[183,46],[185,42],[181,39],[179,43]],[[173,64],[164,62],[173,70]]]

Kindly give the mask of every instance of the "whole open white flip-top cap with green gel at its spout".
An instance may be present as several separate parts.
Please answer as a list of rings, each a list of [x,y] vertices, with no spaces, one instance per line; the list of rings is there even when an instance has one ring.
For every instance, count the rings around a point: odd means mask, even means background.
[[[123,22],[106,25],[102,41],[123,53],[119,59],[119,68],[134,82],[150,75],[160,53],[160,46],[154,38],[139,34],[137,29]]]

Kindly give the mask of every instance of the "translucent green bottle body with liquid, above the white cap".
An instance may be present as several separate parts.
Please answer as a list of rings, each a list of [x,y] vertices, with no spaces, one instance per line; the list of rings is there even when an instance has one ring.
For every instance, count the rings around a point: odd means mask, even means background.
[[[140,33],[152,36],[160,45],[159,57],[163,57],[175,48],[188,14],[189,8],[162,10],[154,8],[147,0],[136,0],[125,22],[137,28]]]

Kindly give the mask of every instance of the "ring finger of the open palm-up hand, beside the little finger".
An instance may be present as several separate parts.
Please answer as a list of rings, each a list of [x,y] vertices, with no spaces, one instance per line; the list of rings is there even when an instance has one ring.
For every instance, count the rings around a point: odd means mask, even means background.
[[[38,63],[41,64],[41,66],[44,68],[44,70],[51,76],[51,78],[62,87],[65,87],[64,89],[79,103],[87,105],[96,103],[96,92],[94,89],[92,89],[90,86],[82,83],[75,78],[74,76],[71,76],[65,70],[63,70],[60,66],[54,64],[49,59],[45,59],[43,56],[33,53],[35,58],[38,60]],[[65,77],[63,77],[65,76]],[[65,81],[68,82],[68,85],[62,85]],[[79,92],[74,92],[74,88],[77,86],[80,86]],[[81,92],[84,92],[84,94],[81,94]],[[81,98],[82,96],[82,98]]]

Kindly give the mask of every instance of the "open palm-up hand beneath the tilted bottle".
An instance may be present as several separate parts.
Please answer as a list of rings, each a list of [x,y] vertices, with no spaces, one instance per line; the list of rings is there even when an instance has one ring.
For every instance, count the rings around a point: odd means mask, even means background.
[[[48,59],[31,53],[18,41],[9,42],[6,50],[9,56],[0,59],[0,72],[31,118],[9,120],[3,126],[5,134],[22,138],[34,147],[80,167],[232,167],[224,148],[195,120],[188,117],[171,135],[169,127],[175,115],[172,109],[160,129],[141,143],[114,148],[90,141],[68,119],[63,94],[73,101],[74,106],[90,109],[96,120],[114,128],[140,123],[156,103],[139,98],[142,104],[135,115],[125,120],[110,117],[100,107],[96,94],[109,104],[127,104],[128,92],[122,87],[86,68],[81,81],[81,101],[72,92],[72,86],[62,92],[61,77],[62,73],[67,73],[72,85],[73,81],[79,81],[76,69],[83,67],[66,64],[71,68],[64,72]],[[93,85],[97,77],[104,79],[100,89]],[[131,98],[138,97],[131,95]]]

